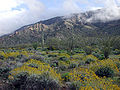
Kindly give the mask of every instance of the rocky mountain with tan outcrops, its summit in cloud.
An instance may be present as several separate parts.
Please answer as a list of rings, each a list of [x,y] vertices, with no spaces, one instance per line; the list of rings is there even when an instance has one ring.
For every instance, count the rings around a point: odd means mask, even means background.
[[[99,33],[120,35],[120,19],[101,21],[93,18],[100,10],[77,13],[69,16],[54,17],[21,27],[15,32],[0,37],[0,45],[18,45],[41,42],[44,38],[64,39],[71,35],[94,37]],[[92,18],[91,21],[89,21]]]

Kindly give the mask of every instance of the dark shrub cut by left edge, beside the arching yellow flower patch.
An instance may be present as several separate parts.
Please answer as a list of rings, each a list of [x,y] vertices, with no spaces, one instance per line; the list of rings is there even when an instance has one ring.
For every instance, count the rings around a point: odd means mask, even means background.
[[[0,77],[8,78],[10,70],[10,67],[0,67]]]

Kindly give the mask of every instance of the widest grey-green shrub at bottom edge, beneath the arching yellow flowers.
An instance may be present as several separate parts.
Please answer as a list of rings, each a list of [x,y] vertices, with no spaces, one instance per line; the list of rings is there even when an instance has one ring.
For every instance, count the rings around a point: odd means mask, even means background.
[[[27,90],[56,90],[59,87],[59,81],[55,80],[54,77],[51,77],[48,72],[41,75],[31,75],[24,84],[24,89]]]

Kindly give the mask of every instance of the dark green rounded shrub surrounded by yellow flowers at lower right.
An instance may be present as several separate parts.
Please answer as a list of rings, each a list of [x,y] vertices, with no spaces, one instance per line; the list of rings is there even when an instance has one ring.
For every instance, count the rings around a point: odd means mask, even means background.
[[[114,75],[114,71],[110,67],[101,67],[95,72],[99,77],[112,77]]]

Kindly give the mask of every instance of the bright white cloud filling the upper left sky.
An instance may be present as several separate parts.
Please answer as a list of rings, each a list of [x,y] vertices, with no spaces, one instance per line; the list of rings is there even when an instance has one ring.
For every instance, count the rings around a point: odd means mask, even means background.
[[[12,10],[24,4],[26,8]],[[0,35],[10,33],[26,24],[36,22],[44,12],[38,0],[3,0],[0,2]]]

